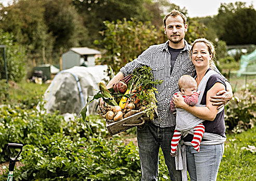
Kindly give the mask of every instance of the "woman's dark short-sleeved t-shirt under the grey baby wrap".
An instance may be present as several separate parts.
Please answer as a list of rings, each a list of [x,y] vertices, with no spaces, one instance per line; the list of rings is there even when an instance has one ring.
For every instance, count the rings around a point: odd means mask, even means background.
[[[222,77],[219,74],[213,74],[209,78],[209,80],[206,84],[205,92],[204,92],[204,95],[203,95],[203,98],[202,98],[200,104],[206,105],[207,92],[217,82],[220,82],[220,83],[224,84],[225,89],[226,89],[226,84],[225,84],[224,80],[222,79]],[[203,122],[203,125],[205,126],[205,132],[219,134],[222,137],[226,137],[226,135],[225,135],[224,114],[225,113],[224,113],[224,109],[223,109],[219,114],[216,115],[216,117],[213,121],[205,120]],[[188,141],[188,142],[191,142],[192,139],[193,139],[192,134],[188,134],[185,138],[183,138],[184,141]],[[202,141],[204,141],[204,139]]]

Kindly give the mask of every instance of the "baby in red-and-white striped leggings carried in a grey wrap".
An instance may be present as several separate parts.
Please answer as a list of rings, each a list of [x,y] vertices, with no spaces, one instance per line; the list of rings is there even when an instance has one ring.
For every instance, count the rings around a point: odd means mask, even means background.
[[[192,105],[192,106],[196,105],[198,101],[199,93],[196,92],[197,83],[195,79],[191,76],[184,75],[179,79],[178,85],[179,85],[180,92],[175,93],[174,95],[177,95],[177,94],[181,95],[184,98],[184,102],[186,102],[188,105]],[[171,100],[170,106],[171,106],[171,112],[173,114],[176,114],[177,110],[172,100]],[[177,113],[177,116],[178,116],[178,113]],[[180,115],[179,118],[180,117],[182,117],[182,115]],[[182,119],[176,119],[176,122],[177,122],[177,125],[180,124],[181,122],[186,122],[186,117],[183,116]],[[194,137],[191,144],[197,150],[197,152],[199,152],[199,146],[201,143],[201,139],[203,138],[203,134],[205,132],[205,126],[202,123],[200,123],[197,126],[193,127],[192,129],[194,130]],[[187,130],[187,128],[185,130]],[[180,130],[180,129],[177,130],[177,126],[176,126],[176,129],[174,130],[174,134],[171,140],[171,156],[173,157],[177,155],[177,147],[182,135],[182,131],[184,130]]]

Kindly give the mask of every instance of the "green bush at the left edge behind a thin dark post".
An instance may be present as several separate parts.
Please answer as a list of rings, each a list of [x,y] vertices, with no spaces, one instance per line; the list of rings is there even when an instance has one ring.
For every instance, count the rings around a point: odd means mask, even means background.
[[[14,43],[12,34],[5,33],[0,29],[0,35],[0,44],[5,45],[8,80],[19,82],[25,76],[25,51]],[[6,79],[3,49],[0,49],[0,54],[0,79]]]

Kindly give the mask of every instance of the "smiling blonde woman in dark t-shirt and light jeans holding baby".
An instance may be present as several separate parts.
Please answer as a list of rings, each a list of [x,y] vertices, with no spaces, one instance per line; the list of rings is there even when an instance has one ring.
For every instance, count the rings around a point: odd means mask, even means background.
[[[202,90],[198,103],[204,106],[191,107],[184,102],[181,96],[174,96],[173,102],[177,108],[182,108],[194,116],[205,120],[203,122],[205,134],[199,153],[191,146],[193,139],[191,133],[183,138],[186,144],[187,170],[191,180],[216,180],[224,152],[224,109],[218,112],[218,106],[212,105],[210,97],[216,95],[220,90],[225,90],[226,85],[223,78],[219,74],[214,73],[210,68],[214,57],[214,47],[210,41],[205,38],[195,40],[190,53],[192,62],[196,67],[197,76],[195,80],[197,87],[199,86],[200,90]]]

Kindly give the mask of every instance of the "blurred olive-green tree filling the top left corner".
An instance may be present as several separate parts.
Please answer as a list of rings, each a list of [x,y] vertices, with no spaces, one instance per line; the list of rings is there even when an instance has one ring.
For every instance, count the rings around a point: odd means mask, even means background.
[[[15,41],[23,45],[33,57],[42,57],[44,48],[51,49],[52,37],[44,21],[44,2],[20,0],[0,8],[1,27],[12,33]]]

